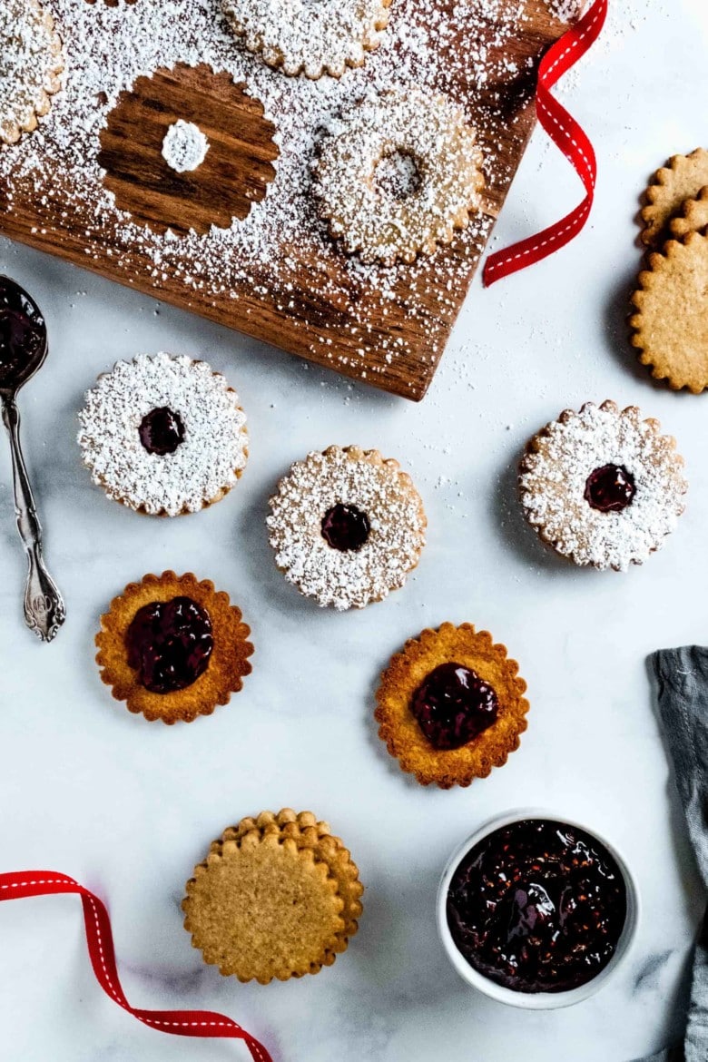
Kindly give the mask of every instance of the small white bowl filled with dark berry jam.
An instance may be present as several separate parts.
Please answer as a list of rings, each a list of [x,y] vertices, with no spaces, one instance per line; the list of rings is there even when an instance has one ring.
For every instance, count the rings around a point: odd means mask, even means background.
[[[538,809],[510,811],[472,834],[437,892],[438,932],[461,977],[526,1010],[594,995],[626,958],[639,910],[617,849]]]

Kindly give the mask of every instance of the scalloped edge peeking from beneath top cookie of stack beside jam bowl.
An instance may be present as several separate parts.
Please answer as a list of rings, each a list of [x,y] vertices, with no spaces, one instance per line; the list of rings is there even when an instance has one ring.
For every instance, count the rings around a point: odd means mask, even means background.
[[[344,929],[338,935],[338,943],[333,952],[346,950],[349,938],[353,937],[359,928],[358,919],[362,912],[361,896],[364,887],[359,880],[359,870],[352,862],[349,851],[339,837],[331,834],[329,823],[317,822],[311,811],[297,813],[288,807],[277,815],[274,815],[273,811],[261,811],[256,819],[242,819],[236,826],[229,826],[228,829],[225,829],[223,837],[212,842],[211,851],[221,851],[224,841],[238,840],[251,829],[259,829],[263,834],[276,833],[282,837],[292,837],[298,844],[311,847],[315,858],[327,863],[344,901],[342,909]],[[329,965],[333,961],[334,955],[332,954],[325,965]]]

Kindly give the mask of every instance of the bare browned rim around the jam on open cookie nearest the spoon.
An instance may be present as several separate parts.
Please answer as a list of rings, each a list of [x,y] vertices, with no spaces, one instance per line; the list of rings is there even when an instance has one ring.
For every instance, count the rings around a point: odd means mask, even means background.
[[[211,620],[213,649],[205,671],[190,686],[170,693],[154,693],[140,685],[136,672],[127,663],[125,634],[133,617],[143,605],[153,601],[170,601],[184,595],[206,610]],[[172,724],[191,722],[197,716],[209,716],[218,704],[227,704],[232,692],[243,686],[251,674],[248,657],[254,651],[247,641],[251,629],[242,622],[241,610],[230,604],[228,594],[214,590],[208,579],[198,582],[192,572],[176,576],[143,576],[139,583],[128,583],[122,594],[110,602],[101,616],[101,630],[96,635],[99,652],[96,662],[101,681],[110,686],[117,701],[125,701],[128,712],[142,715],[150,722],[160,719]]]

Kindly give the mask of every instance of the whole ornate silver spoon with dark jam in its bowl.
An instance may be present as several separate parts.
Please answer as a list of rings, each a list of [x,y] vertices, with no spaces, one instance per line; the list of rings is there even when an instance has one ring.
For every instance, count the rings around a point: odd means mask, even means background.
[[[41,555],[41,525],[20,448],[17,392],[44,364],[49,346],[39,307],[19,285],[0,276],[0,402],[10,435],[17,530],[27,551],[24,621],[42,641],[51,641],[66,619],[64,599]]]

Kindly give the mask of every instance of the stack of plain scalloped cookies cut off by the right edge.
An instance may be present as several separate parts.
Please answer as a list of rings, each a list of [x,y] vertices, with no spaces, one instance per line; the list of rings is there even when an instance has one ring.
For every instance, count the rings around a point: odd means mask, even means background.
[[[644,200],[650,250],[632,296],[632,343],[655,379],[700,394],[708,388],[708,151],[671,158]]]

